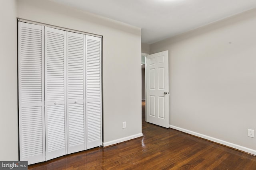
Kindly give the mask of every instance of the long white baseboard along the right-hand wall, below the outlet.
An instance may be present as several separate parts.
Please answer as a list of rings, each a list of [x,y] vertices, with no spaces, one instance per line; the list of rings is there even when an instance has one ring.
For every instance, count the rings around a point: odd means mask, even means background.
[[[244,152],[248,152],[250,154],[256,155],[256,150],[253,150],[253,149],[250,149],[250,148],[246,148],[246,147],[243,147],[243,146],[240,146],[240,145],[236,145],[234,143],[230,143],[230,142],[227,142],[227,141],[222,141],[222,140],[216,139],[214,137],[203,135],[201,133],[193,132],[193,131],[190,131],[190,130],[187,130],[187,129],[183,129],[183,128],[180,128],[180,127],[176,127],[176,126],[173,126],[173,125],[169,125],[169,127],[172,128],[172,129],[176,129],[178,131],[182,131],[182,132],[188,133],[190,135],[201,137],[201,138],[207,139],[209,141],[220,143],[222,145],[226,145],[228,147],[232,147],[232,148],[235,148],[235,149],[238,149],[238,150],[242,150]]]

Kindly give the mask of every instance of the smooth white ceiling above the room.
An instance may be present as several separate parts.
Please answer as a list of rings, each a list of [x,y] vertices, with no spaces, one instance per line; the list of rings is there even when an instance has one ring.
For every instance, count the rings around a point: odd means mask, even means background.
[[[140,27],[148,44],[256,8],[256,0],[52,1]]]

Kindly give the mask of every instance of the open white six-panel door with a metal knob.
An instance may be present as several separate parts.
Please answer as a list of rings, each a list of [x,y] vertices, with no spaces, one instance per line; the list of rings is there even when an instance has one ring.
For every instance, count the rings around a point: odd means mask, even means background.
[[[168,51],[147,56],[147,122],[169,127]]]

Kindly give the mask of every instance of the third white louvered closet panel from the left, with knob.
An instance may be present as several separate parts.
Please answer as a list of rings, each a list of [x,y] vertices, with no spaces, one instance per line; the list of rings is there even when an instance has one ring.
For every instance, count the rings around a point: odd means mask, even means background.
[[[67,32],[68,154],[85,145],[85,35]]]

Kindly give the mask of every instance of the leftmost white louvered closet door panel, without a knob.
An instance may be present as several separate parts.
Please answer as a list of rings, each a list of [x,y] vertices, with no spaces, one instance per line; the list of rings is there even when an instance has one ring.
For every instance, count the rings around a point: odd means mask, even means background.
[[[20,160],[28,164],[45,161],[43,44],[43,26],[18,22]]]

